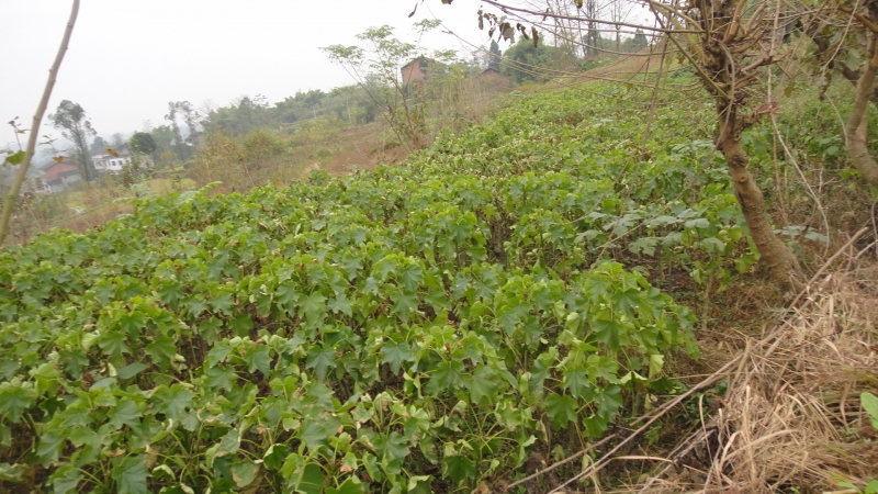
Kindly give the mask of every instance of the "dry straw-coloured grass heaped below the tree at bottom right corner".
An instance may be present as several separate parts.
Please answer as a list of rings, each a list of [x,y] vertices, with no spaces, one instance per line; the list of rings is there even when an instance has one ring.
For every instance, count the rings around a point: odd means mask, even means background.
[[[703,403],[701,428],[649,461],[663,470],[619,492],[855,493],[840,482],[878,479],[878,431],[859,403],[878,390],[877,283],[875,267],[812,283],[732,359],[718,412]]]

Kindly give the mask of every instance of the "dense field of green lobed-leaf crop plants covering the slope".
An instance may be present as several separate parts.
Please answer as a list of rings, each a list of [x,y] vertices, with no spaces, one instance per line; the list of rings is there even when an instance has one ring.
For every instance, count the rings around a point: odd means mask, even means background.
[[[674,135],[689,115],[634,145],[623,106],[519,97],[398,168],[10,248],[0,480],[463,492],[652,406],[694,317],[646,276],[755,257],[719,158]]]

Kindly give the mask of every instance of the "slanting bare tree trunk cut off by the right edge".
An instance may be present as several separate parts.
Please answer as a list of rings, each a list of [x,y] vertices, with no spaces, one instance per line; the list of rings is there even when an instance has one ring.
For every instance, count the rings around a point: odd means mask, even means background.
[[[878,75],[878,35],[869,34],[869,58],[866,61],[863,75],[857,80],[856,100],[851,117],[844,127],[847,156],[851,164],[863,173],[869,186],[878,187],[878,164],[869,154],[866,143],[866,127],[868,125],[869,99],[873,94],[875,77]]]

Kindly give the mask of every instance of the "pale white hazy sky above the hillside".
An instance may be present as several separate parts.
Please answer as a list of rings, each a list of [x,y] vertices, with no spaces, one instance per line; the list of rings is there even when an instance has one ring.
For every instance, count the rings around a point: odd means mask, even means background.
[[[270,102],[297,90],[352,83],[322,46],[356,44],[354,35],[390,24],[416,42],[412,23],[441,19],[474,45],[488,44],[476,26],[476,0],[83,0],[70,49],[43,120],[61,100],[82,105],[100,135],[166,123],[169,101],[227,105],[248,94]],[[30,128],[55,58],[70,0],[0,0],[0,148],[14,136],[5,122]],[[436,30],[430,48],[471,49]]]

